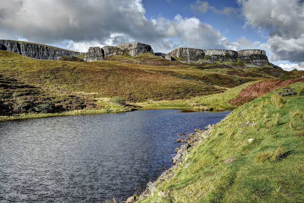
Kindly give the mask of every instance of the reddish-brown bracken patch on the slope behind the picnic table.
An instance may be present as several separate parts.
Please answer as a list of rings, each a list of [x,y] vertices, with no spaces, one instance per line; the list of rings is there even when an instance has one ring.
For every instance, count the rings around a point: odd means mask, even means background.
[[[299,81],[304,82],[304,79],[301,78],[290,79],[290,80],[270,79],[270,80],[257,82],[242,89],[242,91],[240,91],[237,97],[228,101],[228,103],[233,106],[241,106],[244,103],[250,102],[259,96],[262,96],[280,87],[284,87]]]

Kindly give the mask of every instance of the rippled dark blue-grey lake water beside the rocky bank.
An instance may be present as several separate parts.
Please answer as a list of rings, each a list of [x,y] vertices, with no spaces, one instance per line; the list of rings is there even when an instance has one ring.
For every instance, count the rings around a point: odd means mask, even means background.
[[[105,202],[172,166],[177,133],[230,111],[141,110],[0,122],[0,202]]]

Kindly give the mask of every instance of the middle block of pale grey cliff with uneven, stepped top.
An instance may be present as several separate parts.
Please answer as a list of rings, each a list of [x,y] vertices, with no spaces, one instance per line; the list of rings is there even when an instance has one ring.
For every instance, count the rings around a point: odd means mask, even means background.
[[[116,46],[104,46],[90,47],[88,52],[85,54],[85,61],[96,61],[103,60],[107,56],[123,55],[128,54],[130,56],[136,56],[139,53],[154,54],[153,49],[150,45],[142,44],[139,42],[132,42],[131,44],[119,44]]]

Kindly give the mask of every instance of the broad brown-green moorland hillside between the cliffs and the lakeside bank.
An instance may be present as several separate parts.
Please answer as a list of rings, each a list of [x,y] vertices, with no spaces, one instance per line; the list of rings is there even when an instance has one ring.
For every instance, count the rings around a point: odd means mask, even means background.
[[[35,86],[97,92],[128,101],[175,100],[223,92],[241,83],[235,77],[196,68],[148,66],[117,61],[50,61],[0,51],[2,75]],[[255,79],[244,79],[244,82]],[[219,87],[215,87],[219,86]]]

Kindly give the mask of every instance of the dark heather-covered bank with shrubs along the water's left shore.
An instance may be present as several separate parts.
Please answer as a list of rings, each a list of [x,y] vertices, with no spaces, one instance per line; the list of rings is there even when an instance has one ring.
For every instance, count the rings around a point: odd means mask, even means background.
[[[93,93],[94,94],[94,93]],[[133,107],[113,105],[104,98],[83,93],[37,87],[0,75],[0,121],[16,118],[82,113],[130,111]]]

